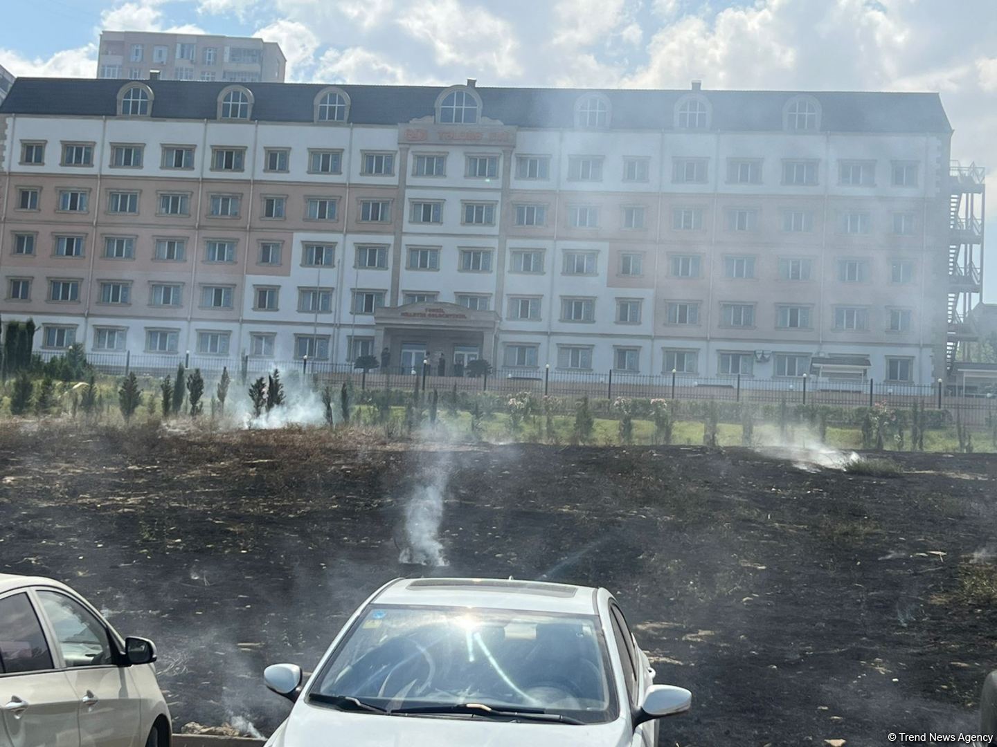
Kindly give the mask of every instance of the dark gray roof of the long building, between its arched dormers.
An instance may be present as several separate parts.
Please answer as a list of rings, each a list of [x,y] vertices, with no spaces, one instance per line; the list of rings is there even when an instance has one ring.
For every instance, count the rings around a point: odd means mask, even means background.
[[[114,117],[125,81],[19,78],[0,114]],[[146,81],[156,94],[157,119],[213,120],[222,82]],[[255,101],[253,120],[312,121],[323,84],[247,83]],[[433,115],[435,86],[340,86],[350,97],[350,122],[399,124]],[[571,127],[578,89],[477,88],[482,114],[522,127]],[[670,129],[678,101],[690,91],[601,90],[612,109],[612,128]],[[806,94],[821,105],[823,130],[832,132],[951,132],[937,94],[793,91],[701,91],[720,130],[779,130],[783,108]]]

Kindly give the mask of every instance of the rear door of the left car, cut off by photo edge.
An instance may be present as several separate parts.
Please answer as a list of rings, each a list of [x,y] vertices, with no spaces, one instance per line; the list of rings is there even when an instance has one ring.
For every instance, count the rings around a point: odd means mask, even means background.
[[[0,742],[79,747],[79,700],[26,591],[0,597]],[[4,741],[6,739],[6,741]]]

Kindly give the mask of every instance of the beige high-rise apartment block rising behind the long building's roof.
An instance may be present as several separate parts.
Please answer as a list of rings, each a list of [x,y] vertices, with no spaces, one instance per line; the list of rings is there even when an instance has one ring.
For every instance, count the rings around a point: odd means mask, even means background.
[[[283,83],[286,60],[274,42],[248,37],[105,31],[97,77],[144,81]]]

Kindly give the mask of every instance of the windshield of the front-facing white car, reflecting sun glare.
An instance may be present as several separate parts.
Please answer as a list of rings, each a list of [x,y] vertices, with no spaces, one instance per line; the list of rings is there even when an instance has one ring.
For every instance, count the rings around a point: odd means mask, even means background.
[[[309,696],[387,710],[482,703],[584,722],[615,717],[594,617],[372,606]]]

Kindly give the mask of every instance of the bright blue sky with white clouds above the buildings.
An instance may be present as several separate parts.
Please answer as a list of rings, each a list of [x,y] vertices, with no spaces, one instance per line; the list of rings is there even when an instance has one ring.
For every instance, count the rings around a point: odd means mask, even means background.
[[[997,172],[997,0],[0,6],[0,65],[25,76],[94,77],[106,28],[260,36],[280,43],[295,82],[452,85],[477,78],[479,86],[684,89],[701,80],[704,89],[932,91],[955,130],[952,157]],[[997,215],[988,223],[997,231]],[[997,256],[990,266],[985,299],[997,303]]]

